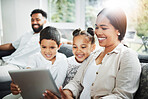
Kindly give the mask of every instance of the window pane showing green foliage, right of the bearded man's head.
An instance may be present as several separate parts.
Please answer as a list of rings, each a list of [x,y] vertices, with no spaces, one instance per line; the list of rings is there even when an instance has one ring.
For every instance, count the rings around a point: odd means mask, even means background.
[[[53,23],[73,23],[76,20],[75,0],[49,0],[49,17]]]

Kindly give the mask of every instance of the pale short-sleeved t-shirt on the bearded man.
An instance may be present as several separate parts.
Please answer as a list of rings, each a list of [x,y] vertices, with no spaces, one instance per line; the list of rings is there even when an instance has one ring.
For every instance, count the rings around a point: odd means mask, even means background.
[[[3,57],[3,60],[7,63],[25,68],[27,65],[26,63],[28,62],[28,57],[40,51],[39,36],[40,33],[25,33],[12,43],[13,47],[17,50],[10,56]]]

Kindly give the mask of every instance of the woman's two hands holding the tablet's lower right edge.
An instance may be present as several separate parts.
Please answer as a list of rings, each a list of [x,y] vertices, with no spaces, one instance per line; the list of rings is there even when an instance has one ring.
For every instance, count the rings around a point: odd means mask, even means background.
[[[61,93],[61,99],[73,99],[72,93],[70,90],[63,90],[62,87],[60,87],[59,91]],[[56,95],[54,95],[49,90],[46,90],[43,95],[46,99],[59,99]]]

